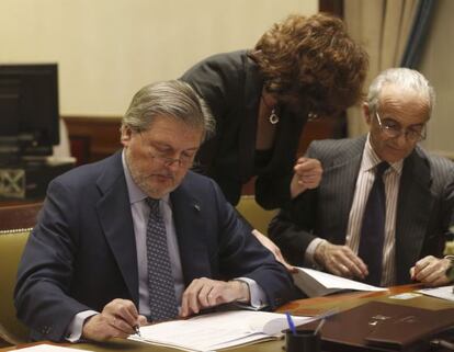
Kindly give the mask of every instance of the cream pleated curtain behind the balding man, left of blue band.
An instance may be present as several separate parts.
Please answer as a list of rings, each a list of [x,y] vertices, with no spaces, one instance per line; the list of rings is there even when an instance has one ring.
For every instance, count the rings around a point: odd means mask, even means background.
[[[349,33],[370,55],[364,92],[381,71],[400,65],[417,10],[418,0],[344,1],[344,20]],[[348,124],[349,137],[368,130],[361,106],[349,109]]]

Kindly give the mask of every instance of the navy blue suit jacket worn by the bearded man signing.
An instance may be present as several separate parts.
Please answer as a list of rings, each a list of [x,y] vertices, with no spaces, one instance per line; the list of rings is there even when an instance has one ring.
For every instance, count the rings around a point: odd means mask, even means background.
[[[293,298],[287,273],[248,230],[213,180],[189,172],[171,193],[184,282],[246,276],[270,308]],[[18,316],[32,339],[61,340],[73,316],[114,298],[138,306],[133,217],[121,152],[48,186],[19,268]]]

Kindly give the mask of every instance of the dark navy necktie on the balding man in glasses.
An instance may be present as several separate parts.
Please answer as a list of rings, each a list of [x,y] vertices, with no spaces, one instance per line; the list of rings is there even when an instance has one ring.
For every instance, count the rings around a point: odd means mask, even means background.
[[[365,282],[379,286],[382,281],[383,243],[385,240],[386,194],[383,174],[389,163],[382,161],[375,168],[375,180],[368,193],[361,226],[359,257],[367,265]]]

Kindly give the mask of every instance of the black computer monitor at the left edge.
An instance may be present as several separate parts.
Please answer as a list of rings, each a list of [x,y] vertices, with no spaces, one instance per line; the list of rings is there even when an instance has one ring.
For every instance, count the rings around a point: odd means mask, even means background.
[[[0,65],[0,163],[52,155],[58,118],[57,64]]]

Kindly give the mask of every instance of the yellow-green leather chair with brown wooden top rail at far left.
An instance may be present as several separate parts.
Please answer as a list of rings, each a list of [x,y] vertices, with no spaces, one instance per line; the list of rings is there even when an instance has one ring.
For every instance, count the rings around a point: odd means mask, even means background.
[[[27,341],[27,328],[15,317],[13,291],[19,261],[42,204],[0,207],[0,338]]]

